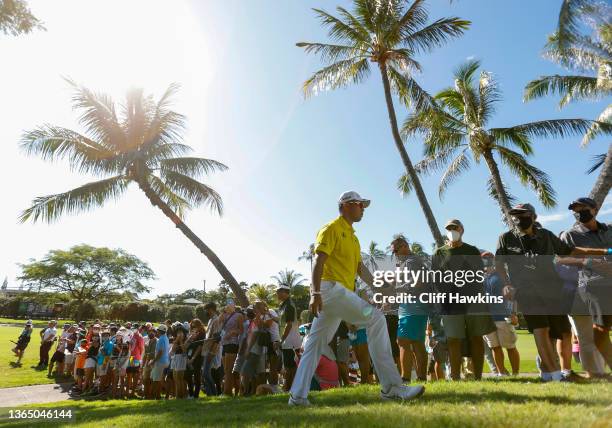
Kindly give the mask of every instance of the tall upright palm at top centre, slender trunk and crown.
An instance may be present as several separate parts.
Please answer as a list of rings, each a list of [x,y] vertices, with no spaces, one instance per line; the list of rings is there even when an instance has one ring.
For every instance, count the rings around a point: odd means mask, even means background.
[[[304,82],[306,97],[360,83],[370,74],[370,63],[378,65],[395,147],[406,173],[412,178],[429,229],[436,242],[441,244],[440,229],[399,133],[392,88],[406,105],[416,109],[427,105],[429,96],[412,77],[413,72],[421,70],[414,55],[431,51],[449,39],[461,36],[470,22],[442,18],[427,25],[424,3],[424,0],[415,0],[412,4],[405,0],[353,0],[352,12],[343,7],[336,8],[340,17],[314,9],[321,23],[329,28],[332,43],[300,42],[297,46],[307,53],[319,54],[326,63]]]

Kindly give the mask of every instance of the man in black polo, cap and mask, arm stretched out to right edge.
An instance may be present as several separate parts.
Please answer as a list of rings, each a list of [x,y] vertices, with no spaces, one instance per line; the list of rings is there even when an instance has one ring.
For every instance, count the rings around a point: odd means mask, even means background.
[[[562,242],[551,231],[535,226],[537,215],[530,204],[516,205],[510,215],[516,227],[499,237],[495,257],[497,272],[505,284],[504,296],[517,300],[533,332],[542,360],[542,379],[562,380],[550,337],[567,336],[570,325],[561,310],[562,282],[554,268],[554,256],[605,255],[612,250]]]

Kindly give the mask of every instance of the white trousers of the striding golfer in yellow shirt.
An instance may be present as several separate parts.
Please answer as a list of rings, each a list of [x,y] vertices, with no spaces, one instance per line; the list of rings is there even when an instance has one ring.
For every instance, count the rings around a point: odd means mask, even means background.
[[[393,360],[387,323],[382,312],[342,284],[332,281],[321,281],[321,299],[323,309],[310,327],[304,353],[291,387],[291,395],[295,398],[308,396],[310,382],[319,364],[323,348],[331,342],[340,321],[365,327],[368,349],[382,390],[388,391],[392,386],[401,385],[402,377]]]

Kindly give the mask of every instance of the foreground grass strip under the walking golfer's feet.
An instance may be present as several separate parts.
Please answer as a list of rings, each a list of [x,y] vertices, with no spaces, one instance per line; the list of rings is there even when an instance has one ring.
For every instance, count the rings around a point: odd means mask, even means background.
[[[61,402],[28,408],[70,407],[80,427],[341,426],[341,427],[609,427],[612,385],[540,383],[517,378],[427,384],[410,403],[382,402],[377,386],[313,393],[312,407],[289,408],[287,394],[196,401]],[[6,409],[3,410],[3,416]],[[1,422],[6,422],[0,421]],[[8,426],[52,425],[15,421]]]

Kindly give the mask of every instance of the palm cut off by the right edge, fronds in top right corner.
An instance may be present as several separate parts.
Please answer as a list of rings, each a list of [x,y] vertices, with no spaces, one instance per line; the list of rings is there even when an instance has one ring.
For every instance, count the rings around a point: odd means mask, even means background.
[[[597,101],[612,94],[612,7],[596,0],[564,0],[557,30],[549,36],[544,56],[572,71],[571,75],[541,76],[525,88],[525,101],[548,94],[561,97],[559,107],[572,101]],[[584,35],[591,26],[594,34]],[[604,109],[585,132],[587,145],[601,131],[600,123],[612,124],[612,104]],[[612,144],[605,154],[603,168],[591,190],[599,205],[612,188]]]

